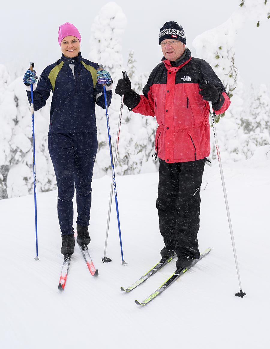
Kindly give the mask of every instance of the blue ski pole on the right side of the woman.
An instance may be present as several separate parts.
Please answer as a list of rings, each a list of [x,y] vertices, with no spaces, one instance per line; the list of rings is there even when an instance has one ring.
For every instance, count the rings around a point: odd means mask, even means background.
[[[103,70],[103,66],[99,65],[98,66],[98,70]],[[111,134],[110,134],[110,123],[109,123],[109,114],[108,114],[108,103],[107,103],[107,95],[106,95],[106,86],[105,86],[105,84],[102,84],[102,85],[103,85],[104,100],[105,100],[105,111],[106,111],[107,129],[108,129],[108,138],[109,138],[109,148],[110,148],[110,158],[111,158],[112,181],[113,181],[113,184],[114,184],[114,196],[115,196],[115,206],[116,206],[118,231],[119,231],[119,239],[120,239],[120,247],[121,247],[122,265],[125,265],[127,262],[124,261],[124,257],[123,257],[123,247],[122,247],[120,220],[119,220],[118,200],[117,200],[117,191],[116,191],[116,182],[115,182],[114,159],[112,158],[112,145],[111,145]]]

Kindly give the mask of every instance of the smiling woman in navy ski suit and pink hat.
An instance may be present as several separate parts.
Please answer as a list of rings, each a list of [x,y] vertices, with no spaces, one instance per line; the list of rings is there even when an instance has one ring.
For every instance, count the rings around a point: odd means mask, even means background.
[[[105,108],[103,86],[111,102],[112,80],[106,70],[82,58],[81,36],[71,23],[59,27],[58,42],[62,57],[46,67],[33,91],[34,110],[41,109],[52,91],[48,148],[57,179],[57,213],[62,233],[61,253],[74,252],[73,203],[74,185],[77,203],[77,242],[82,248],[90,243],[88,225],[92,200],[92,176],[97,153],[95,104]],[[27,70],[27,86],[37,81],[36,72]]]

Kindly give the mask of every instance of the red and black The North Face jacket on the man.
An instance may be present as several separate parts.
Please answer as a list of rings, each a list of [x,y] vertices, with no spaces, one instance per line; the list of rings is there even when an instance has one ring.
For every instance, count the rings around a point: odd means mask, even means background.
[[[199,84],[213,84],[219,99],[217,114],[230,105],[222,82],[203,59],[185,56],[172,66],[163,57],[149,76],[134,113],[156,117],[156,154],[167,163],[196,161],[210,154],[209,103],[199,95]]]

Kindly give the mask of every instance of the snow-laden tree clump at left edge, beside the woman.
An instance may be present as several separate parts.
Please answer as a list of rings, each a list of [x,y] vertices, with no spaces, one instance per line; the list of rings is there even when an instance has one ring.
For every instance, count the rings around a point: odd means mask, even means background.
[[[55,179],[47,147],[49,106],[35,112],[37,191],[55,188]],[[32,124],[22,77],[9,84],[0,104],[0,198],[32,193]]]

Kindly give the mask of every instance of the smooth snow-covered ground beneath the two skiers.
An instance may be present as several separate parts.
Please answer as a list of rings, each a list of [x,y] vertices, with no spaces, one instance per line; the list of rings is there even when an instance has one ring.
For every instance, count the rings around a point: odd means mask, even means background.
[[[111,178],[93,181],[89,250],[99,275],[90,275],[75,246],[63,292],[57,289],[63,258],[56,191],[37,195],[38,262],[33,196],[0,200],[0,347],[269,348],[269,150],[261,147],[247,161],[223,165],[244,298],[234,296],[240,288],[217,163],[205,169],[198,235],[201,252],[212,251],[146,306],[134,300],[158,288],[174,262],[130,293],[120,287],[160,258],[158,173],[116,179],[126,266],[114,202],[107,248],[112,262],[101,261]]]

